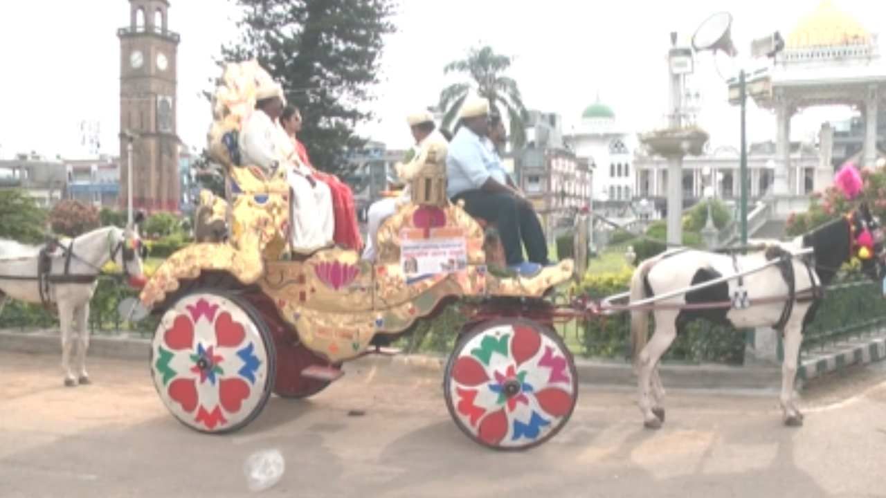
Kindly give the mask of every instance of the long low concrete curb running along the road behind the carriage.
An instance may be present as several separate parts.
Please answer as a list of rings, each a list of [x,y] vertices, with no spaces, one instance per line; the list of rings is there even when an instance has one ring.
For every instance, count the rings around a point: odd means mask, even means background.
[[[0,331],[0,350],[26,354],[61,354],[57,331]],[[89,356],[147,363],[150,354],[151,341],[147,338],[94,335],[89,339]],[[442,378],[447,357],[429,354],[372,355],[354,363],[358,368],[375,366],[403,375],[424,374]],[[576,359],[576,369],[579,372],[579,382],[583,384],[633,387],[637,383],[632,365],[626,362]],[[781,369],[770,365],[729,367],[714,364],[665,364],[660,371],[665,388],[772,390],[781,386]]]

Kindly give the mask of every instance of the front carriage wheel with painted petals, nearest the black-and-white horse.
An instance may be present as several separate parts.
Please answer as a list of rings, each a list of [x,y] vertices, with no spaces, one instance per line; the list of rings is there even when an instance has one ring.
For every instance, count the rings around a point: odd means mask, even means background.
[[[470,439],[527,449],[569,420],[578,377],[556,333],[525,319],[499,319],[479,324],[455,346],[444,394],[449,414]]]

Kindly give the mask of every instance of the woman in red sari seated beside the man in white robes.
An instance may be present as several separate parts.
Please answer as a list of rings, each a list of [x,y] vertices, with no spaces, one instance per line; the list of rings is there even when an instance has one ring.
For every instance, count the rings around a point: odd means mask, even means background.
[[[318,171],[307,156],[305,144],[299,141],[296,136],[301,131],[301,111],[294,105],[287,105],[280,117],[280,124],[286,130],[295,152],[299,156],[301,163],[307,166],[311,171],[311,175],[317,180],[326,183],[332,194],[332,207],[335,214],[335,234],[336,244],[342,245],[348,249],[360,252],[363,241],[360,236],[360,228],[357,225],[357,213],[354,208],[354,192],[351,191],[346,183],[338,179],[336,175],[329,175]]]

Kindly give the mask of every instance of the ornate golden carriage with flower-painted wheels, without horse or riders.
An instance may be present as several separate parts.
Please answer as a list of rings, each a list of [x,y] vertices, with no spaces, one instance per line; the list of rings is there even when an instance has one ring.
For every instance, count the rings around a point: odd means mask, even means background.
[[[237,164],[237,113],[252,107],[259,70],[229,66],[216,95],[210,151],[227,171],[228,199],[206,194],[201,208],[203,222],[224,220],[229,236],[174,253],[141,294],[162,316],[151,364],[167,409],[201,432],[236,431],[271,393],[319,393],[344,362],[385,353],[418,320],[472,297],[445,373],[455,423],[490,447],[552,437],[571,415],[578,379],[545,298],[570,281],[573,262],[532,277],[489,268],[485,230],[447,199],[445,152],[435,149],[412,180],[411,202],[379,230],[377,261],[340,247],[291,253],[284,173]]]

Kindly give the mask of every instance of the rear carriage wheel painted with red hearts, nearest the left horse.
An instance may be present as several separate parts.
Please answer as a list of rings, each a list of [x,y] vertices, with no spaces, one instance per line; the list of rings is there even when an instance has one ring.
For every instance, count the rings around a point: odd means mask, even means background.
[[[152,341],[151,368],[160,399],[200,432],[233,432],[268,402],[273,338],[240,297],[198,291],[163,315]]]

